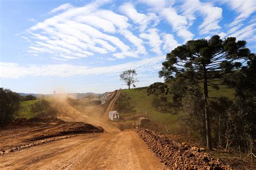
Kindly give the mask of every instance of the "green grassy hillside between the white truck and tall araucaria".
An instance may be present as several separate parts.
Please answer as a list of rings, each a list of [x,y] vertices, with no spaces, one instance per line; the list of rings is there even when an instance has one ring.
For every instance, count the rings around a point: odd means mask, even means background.
[[[166,83],[170,85],[170,83]],[[122,102],[117,101],[117,108],[126,122],[136,121],[138,117],[143,116],[149,118],[151,121],[160,125],[159,131],[167,133],[166,128],[170,131],[178,128],[178,117],[181,115],[181,108],[179,103],[173,103],[173,95],[165,95],[167,97],[167,105],[165,111],[160,111],[153,106],[153,102],[156,100],[155,95],[147,95],[147,89],[149,87],[123,89],[121,90]],[[211,89],[210,89],[211,90]],[[226,96],[228,98],[234,97],[234,89],[219,89],[210,92],[212,96]],[[125,103],[125,104],[124,104]],[[126,107],[125,107],[126,106]],[[147,115],[143,112],[146,110]],[[137,118],[137,119],[136,119]],[[166,128],[165,128],[166,126]]]

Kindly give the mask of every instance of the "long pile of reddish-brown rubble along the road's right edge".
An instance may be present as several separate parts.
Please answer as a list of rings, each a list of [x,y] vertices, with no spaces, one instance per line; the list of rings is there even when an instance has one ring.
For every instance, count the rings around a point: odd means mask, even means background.
[[[232,169],[220,159],[200,152],[198,147],[184,146],[148,129],[138,128],[136,132],[160,158],[161,162],[172,169]]]

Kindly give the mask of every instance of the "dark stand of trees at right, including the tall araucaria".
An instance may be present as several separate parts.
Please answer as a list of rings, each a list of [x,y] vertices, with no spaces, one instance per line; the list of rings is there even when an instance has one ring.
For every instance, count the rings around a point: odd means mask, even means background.
[[[159,76],[170,83],[170,90],[159,83],[154,84],[157,88],[152,84],[148,93],[173,94],[173,101],[183,105],[180,126],[208,149],[240,146],[248,150],[256,137],[255,65],[255,54],[246,48],[246,41],[219,36],[190,40],[173,49],[163,62]],[[223,88],[234,88],[234,98],[209,95]]]

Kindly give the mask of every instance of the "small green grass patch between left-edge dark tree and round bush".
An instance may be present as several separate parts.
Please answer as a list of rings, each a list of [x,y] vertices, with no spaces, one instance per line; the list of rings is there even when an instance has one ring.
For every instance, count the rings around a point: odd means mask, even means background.
[[[29,119],[29,118],[37,116],[33,112],[31,112],[31,107],[36,101],[37,100],[21,102],[21,107],[15,113],[14,117],[15,118],[28,118]]]

